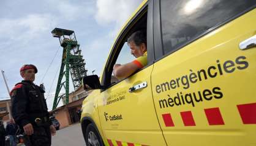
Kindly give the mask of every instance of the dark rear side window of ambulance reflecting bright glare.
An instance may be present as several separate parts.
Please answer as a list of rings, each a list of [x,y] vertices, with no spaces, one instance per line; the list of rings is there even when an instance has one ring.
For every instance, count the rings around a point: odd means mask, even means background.
[[[228,19],[255,7],[255,1],[162,0],[164,54],[174,52]]]

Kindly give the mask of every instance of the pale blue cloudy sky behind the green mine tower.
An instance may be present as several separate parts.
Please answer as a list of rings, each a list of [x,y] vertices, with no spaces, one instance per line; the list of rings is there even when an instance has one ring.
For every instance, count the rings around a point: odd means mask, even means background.
[[[45,85],[47,105],[51,109],[62,57],[62,47],[58,38],[51,35],[51,30],[55,27],[74,30],[88,75],[94,70],[94,74],[100,75],[116,35],[141,2],[2,0],[0,70],[4,71],[10,90],[22,80],[21,66],[34,64],[39,71],[34,83]],[[73,91],[71,82],[69,90]],[[4,99],[9,99],[9,94],[1,74],[0,100]]]

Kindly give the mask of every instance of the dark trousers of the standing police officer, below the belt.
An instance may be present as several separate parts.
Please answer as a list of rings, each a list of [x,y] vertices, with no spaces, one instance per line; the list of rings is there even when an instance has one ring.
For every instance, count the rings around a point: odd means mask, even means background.
[[[34,134],[29,136],[30,144],[28,146],[50,146],[51,145],[51,132],[50,126],[37,126],[33,125]]]

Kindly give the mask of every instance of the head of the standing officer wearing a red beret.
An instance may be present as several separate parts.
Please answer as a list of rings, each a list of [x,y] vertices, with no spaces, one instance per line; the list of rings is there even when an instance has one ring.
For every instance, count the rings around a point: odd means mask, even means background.
[[[20,75],[24,80],[34,82],[37,68],[33,64],[25,64],[20,68]]]

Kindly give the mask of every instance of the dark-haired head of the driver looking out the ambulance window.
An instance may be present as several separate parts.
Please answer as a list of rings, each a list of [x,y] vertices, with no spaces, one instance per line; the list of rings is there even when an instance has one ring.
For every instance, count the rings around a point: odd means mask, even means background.
[[[139,30],[132,33],[127,40],[128,46],[130,47],[130,54],[134,57],[140,57],[146,52],[146,33]]]

